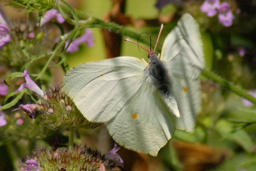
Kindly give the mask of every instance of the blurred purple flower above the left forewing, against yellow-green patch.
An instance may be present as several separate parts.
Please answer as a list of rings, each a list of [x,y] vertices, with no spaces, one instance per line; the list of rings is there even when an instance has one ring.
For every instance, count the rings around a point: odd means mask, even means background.
[[[65,45],[65,48],[67,48],[68,44],[69,44],[70,40],[68,40],[66,42],[66,45]],[[83,44],[87,42],[87,45],[89,47],[92,47],[94,45],[94,37],[92,36],[92,30],[90,29],[86,29],[85,30],[85,33],[80,37],[80,38],[76,38],[74,39],[70,45],[68,46],[66,52],[70,52],[70,53],[73,53],[73,52],[76,52],[78,51],[78,46],[80,44]]]

